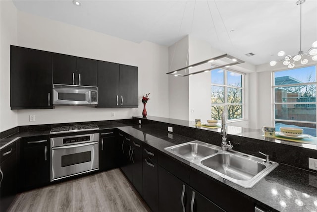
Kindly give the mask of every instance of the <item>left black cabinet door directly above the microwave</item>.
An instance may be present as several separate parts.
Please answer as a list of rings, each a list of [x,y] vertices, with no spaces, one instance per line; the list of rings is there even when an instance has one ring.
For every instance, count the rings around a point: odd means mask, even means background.
[[[76,66],[75,56],[53,53],[53,84],[76,84]]]

